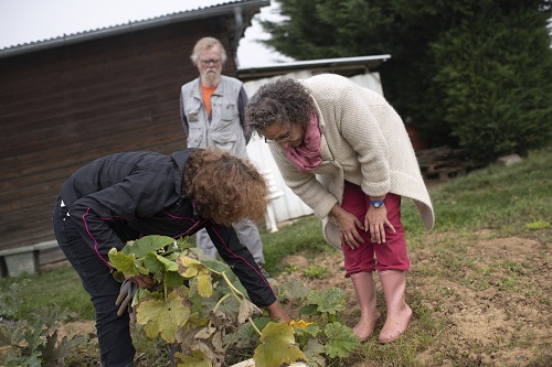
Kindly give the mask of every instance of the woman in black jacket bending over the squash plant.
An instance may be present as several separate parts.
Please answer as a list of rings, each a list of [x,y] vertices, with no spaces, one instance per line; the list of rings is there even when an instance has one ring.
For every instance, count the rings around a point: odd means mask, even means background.
[[[117,316],[120,290],[108,251],[147,235],[173,238],[205,228],[222,259],[272,319],[288,321],[232,223],[264,215],[267,188],[255,168],[227,152],[188,149],[172,155],[125,152],[97,159],[63,184],[53,212],[57,242],[96,309],[102,366],[134,366],[129,315]],[[147,277],[131,279],[151,287]]]

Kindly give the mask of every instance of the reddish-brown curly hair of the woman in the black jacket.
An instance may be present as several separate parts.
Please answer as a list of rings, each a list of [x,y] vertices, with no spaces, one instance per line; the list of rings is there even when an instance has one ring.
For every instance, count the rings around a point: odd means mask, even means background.
[[[268,197],[265,179],[252,163],[215,148],[191,153],[183,191],[202,217],[223,225],[263,218]]]

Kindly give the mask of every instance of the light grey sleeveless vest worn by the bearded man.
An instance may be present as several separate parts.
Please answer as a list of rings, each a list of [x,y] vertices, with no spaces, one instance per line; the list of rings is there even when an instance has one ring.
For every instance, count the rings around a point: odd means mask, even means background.
[[[242,82],[221,75],[211,97],[211,120],[203,105],[200,78],[182,86],[182,106],[188,119],[188,148],[217,147],[247,158],[246,141],[240,123],[237,97]]]

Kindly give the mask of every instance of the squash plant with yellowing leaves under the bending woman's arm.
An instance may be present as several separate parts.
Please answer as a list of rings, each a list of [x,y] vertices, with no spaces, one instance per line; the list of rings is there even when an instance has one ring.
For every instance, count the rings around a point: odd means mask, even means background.
[[[298,281],[282,284],[278,295],[293,302],[307,320],[273,322],[246,296],[230,267],[204,257],[188,238],[146,236],[109,251],[114,277],[147,274],[157,285],[138,289],[132,300],[136,322],[149,338],[172,344],[178,367],[220,367],[229,347],[256,345],[259,367],[298,360],[325,366],[347,357],[360,342],[338,320],[344,310],[339,289],[310,290]]]

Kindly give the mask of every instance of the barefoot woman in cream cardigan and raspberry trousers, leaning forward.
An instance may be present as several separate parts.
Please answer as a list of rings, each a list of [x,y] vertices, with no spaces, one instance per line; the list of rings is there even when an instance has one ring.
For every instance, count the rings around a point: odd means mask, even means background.
[[[380,319],[378,271],[388,307],[379,341],[395,341],[412,316],[401,197],[414,199],[427,229],[435,220],[400,116],[381,95],[322,74],[264,85],[246,107],[246,121],[270,143],[286,184],[322,219],[328,242],[343,250],[361,310],[357,337],[365,341]]]

